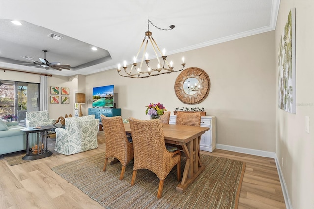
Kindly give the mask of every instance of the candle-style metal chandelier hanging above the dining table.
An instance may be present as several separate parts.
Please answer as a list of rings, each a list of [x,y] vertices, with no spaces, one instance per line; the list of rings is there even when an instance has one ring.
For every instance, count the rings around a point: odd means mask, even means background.
[[[149,19],[147,22],[148,28],[147,31],[145,32],[145,37],[144,40],[137,52],[137,55],[134,57],[133,59],[133,64],[130,70],[127,70],[127,66],[126,66],[126,61],[123,62],[124,66],[122,67],[124,69],[124,73],[121,73],[121,65],[118,64],[118,73],[120,76],[123,77],[130,77],[130,78],[147,78],[150,76],[158,76],[161,74],[165,74],[165,73],[172,73],[172,72],[178,72],[178,71],[182,71],[183,68],[185,67],[185,63],[184,63],[184,57],[182,57],[182,69],[180,70],[174,70],[174,68],[172,67],[173,62],[171,61],[170,64],[167,61],[167,56],[166,56],[166,52],[165,49],[163,49],[163,51],[161,52],[158,45],[156,44],[156,41],[154,40],[154,38],[152,37],[152,32],[149,31],[149,24],[152,24],[153,26],[155,26]],[[161,29],[157,26],[155,26],[156,28],[160,29],[160,30],[172,30],[173,28],[175,28],[174,25],[169,26],[170,29]],[[142,51],[142,47],[144,46],[144,43],[146,41],[144,50]],[[150,60],[148,59],[148,53],[146,53],[146,49],[148,46],[148,43],[151,43],[152,45],[152,49],[157,57],[157,68],[153,68],[150,67]],[[158,56],[159,54],[159,56]],[[139,65],[136,63],[137,58],[139,57],[139,55],[141,55],[141,62],[139,63]],[[161,57],[160,57],[161,56]],[[144,59],[145,58],[145,59]],[[143,65],[144,62],[144,65]],[[147,68],[146,68],[146,66]],[[146,68],[146,69],[145,69]],[[145,69],[145,70],[144,70]]]

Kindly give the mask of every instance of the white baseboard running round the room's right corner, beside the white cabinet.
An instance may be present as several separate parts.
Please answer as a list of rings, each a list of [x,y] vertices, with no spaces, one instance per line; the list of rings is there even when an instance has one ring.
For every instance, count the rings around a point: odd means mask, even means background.
[[[286,186],[286,183],[285,183],[284,176],[283,176],[283,174],[281,172],[281,167],[280,167],[280,164],[278,162],[278,158],[277,158],[276,153],[268,152],[268,151],[262,151],[262,150],[248,149],[248,148],[243,148],[243,147],[234,147],[234,146],[223,145],[223,144],[216,144],[216,148],[217,149],[221,149],[221,150],[228,150],[228,151],[234,151],[234,152],[238,152],[238,153],[245,153],[245,154],[255,155],[255,156],[262,156],[262,157],[273,158],[275,160],[275,163],[276,163],[277,172],[278,172],[279,181],[280,181],[281,189],[282,189],[282,192],[283,192],[286,208],[287,209],[292,209],[292,205],[291,205],[291,201],[290,201],[290,198],[289,198],[287,186]]]

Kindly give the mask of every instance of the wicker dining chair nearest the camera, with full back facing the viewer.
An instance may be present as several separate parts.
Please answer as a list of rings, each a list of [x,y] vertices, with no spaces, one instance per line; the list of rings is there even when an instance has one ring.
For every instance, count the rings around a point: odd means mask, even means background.
[[[134,148],[133,186],[138,169],[148,169],[160,179],[157,198],[161,198],[163,183],[171,169],[177,165],[177,179],[180,181],[180,151],[169,152],[160,120],[138,120],[129,118]]]

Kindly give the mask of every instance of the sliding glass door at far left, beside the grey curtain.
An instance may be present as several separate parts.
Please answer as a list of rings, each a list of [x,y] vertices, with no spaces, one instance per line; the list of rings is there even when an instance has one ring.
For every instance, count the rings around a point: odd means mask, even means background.
[[[39,111],[39,83],[0,80],[0,117],[15,115],[23,125],[27,111]]]

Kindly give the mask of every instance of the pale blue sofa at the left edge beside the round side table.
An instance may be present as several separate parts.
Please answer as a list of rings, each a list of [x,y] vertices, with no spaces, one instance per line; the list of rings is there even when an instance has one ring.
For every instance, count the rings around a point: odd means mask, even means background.
[[[20,131],[23,128],[18,122],[0,120],[0,155],[26,150],[26,133]]]

